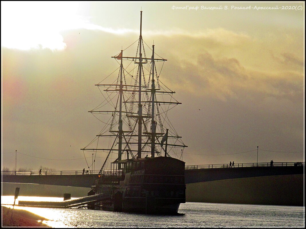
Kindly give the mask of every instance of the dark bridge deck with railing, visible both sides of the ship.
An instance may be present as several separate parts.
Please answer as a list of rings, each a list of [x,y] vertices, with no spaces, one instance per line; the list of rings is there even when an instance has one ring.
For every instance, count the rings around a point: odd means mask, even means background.
[[[98,179],[98,174],[95,174],[95,171],[91,171],[92,174],[84,175],[82,171],[80,171],[81,173],[78,173],[78,171],[45,171],[42,173],[44,175],[33,175],[35,172],[38,174],[38,171],[2,171],[2,182],[90,188]],[[109,175],[110,171],[103,171],[103,173]],[[229,164],[189,165],[185,167],[185,183],[303,173],[304,162],[274,162],[273,166],[270,162],[240,163],[234,164],[234,167],[230,167]]]

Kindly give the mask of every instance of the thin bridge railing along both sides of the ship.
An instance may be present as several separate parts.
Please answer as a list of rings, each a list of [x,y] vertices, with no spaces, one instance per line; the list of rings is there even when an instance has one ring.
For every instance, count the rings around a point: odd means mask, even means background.
[[[235,163],[233,167],[269,167],[270,162],[264,163]],[[304,166],[304,162],[274,162],[273,166]],[[216,169],[216,168],[230,168],[230,164],[212,164],[212,165],[186,165],[185,169]],[[99,174],[100,170],[86,170],[84,175]],[[115,174],[116,173],[116,174]],[[39,171],[1,171],[2,175],[39,175]],[[121,176],[122,170],[103,170],[103,175],[106,176]],[[41,175],[83,175],[83,170],[71,171],[42,171]]]

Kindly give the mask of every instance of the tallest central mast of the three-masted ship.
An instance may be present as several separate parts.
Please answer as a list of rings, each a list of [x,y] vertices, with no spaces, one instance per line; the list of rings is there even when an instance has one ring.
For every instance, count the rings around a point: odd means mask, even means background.
[[[142,72],[142,53],[141,53],[141,22],[142,11],[140,11],[140,36],[139,36],[139,99],[138,99],[138,151],[137,158],[141,158],[141,135],[142,135],[142,105],[141,105],[141,72]]]

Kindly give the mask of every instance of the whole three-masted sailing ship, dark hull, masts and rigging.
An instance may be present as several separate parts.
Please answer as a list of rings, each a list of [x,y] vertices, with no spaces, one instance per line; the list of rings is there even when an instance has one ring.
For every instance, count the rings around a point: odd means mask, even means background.
[[[99,89],[103,88],[100,91],[105,100],[88,111],[95,117],[111,115],[109,122],[98,118],[105,126],[90,144],[81,149],[84,155],[85,151],[106,153],[99,178],[91,186],[92,194],[103,194],[103,200],[89,207],[173,214],[177,213],[181,203],[185,203],[182,156],[187,146],[170,123],[167,113],[181,103],[173,98],[175,92],[159,78],[156,66],[163,66],[166,59],[155,54],[154,45],[152,49],[147,46],[152,55],[146,56],[141,30],[142,11],[136,55],[125,55],[125,49],[112,56],[120,65],[118,75],[111,84],[96,84]],[[127,61],[128,66],[124,67],[123,61]],[[110,75],[106,77],[110,78]],[[101,110],[101,107],[106,109]],[[99,143],[106,144],[105,138],[109,139],[108,147],[99,147]]]

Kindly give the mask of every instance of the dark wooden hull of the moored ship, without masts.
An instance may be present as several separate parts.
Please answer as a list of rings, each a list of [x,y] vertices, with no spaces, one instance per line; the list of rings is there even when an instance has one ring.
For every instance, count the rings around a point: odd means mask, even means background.
[[[186,201],[185,162],[170,157],[122,160],[122,172],[112,170],[91,186],[103,194],[95,207],[109,211],[176,214]]]

